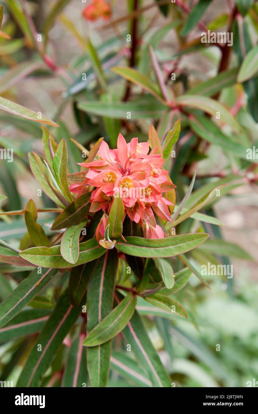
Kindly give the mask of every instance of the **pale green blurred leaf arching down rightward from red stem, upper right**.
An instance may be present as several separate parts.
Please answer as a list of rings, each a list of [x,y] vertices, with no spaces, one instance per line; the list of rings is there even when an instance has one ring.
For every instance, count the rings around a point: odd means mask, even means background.
[[[221,105],[221,103],[207,96],[193,96],[182,95],[175,99],[178,105],[188,106],[189,108],[201,109],[204,112],[209,113],[211,116],[216,116],[216,113],[220,113],[220,122],[225,122],[235,132],[241,132],[240,125],[236,122],[234,116],[227,111],[227,109]]]

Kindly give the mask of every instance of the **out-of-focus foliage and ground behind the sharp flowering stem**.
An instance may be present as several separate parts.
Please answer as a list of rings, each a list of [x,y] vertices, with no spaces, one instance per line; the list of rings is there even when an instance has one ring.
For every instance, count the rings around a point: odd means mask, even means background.
[[[208,290],[192,274],[187,286],[175,294],[187,309],[189,320],[146,318],[144,310],[140,313],[176,386],[244,387],[258,372],[257,261],[251,261],[246,253],[257,257],[258,169],[255,160],[246,159],[245,152],[257,142],[258,68],[253,68],[251,76],[245,72],[241,77],[239,68],[257,44],[258,2],[113,0],[109,3],[110,18],[96,20],[84,12],[90,3],[0,2],[4,6],[1,30],[7,35],[0,37],[0,95],[59,125],[49,130],[57,142],[66,140],[70,173],[79,171],[76,163],[81,161],[82,148],[71,137],[87,149],[99,137],[116,147],[119,132],[128,141],[135,136],[146,141],[153,124],[162,138],[181,119],[180,137],[173,147],[176,157],[169,157],[165,165],[177,185],[177,204],[195,170],[194,191],[201,189],[199,196],[227,183],[216,204],[202,211],[227,227],[189,218],[179,225],[178,233],[210,233],[216,243],[194,250],[191,263],[196,269],[207,262],[233,264],[234,277],[205,277],[211,287]],[[232,32],[233,46],[201,43],[201,32],[206,29]],[[40,41],[35,38],[38,34]],[[248,68],[252,65],[250,60]],[[137,72],[126,72],[124,67]],[[210,101],[205,100],[201,107],[196,102],[189,104],[189,95],[213,98],[214,107],[210,109]],[[167,105],[179,96],[186,98],[179,99],[177,106]],[[219,104],[225,111],[217,120]],[[233,130],[230,115],[241,132]],[[205,119],[207,128],[200,131],[196,119],[201,123]],[[36,200],[38,184],[30,172],[27,153],[35,151],[43,156],[41,136],[40,123],[0,111],[0,146],[14,149],[14,163],[0,160],[0,193],[8,197],[0,200],[2,211],[23,209],[29,198]],[[45,195],[37,197],[38,208],[53,206]],[[26,248],[24,220],[20,216],[0,217],[0,238]],[[47,234],[51,217],[53,214],[44,213],[38,220]],[[222,238],[225,244],[220,242]],[[241,246],[240,250],[232,243]],[[7,272],[11,272],[9,276]],[[1,301],[26,274],[0,264]],[[37,310],[43,318],[38,330],[67,283],[68,274],[60,273],[53,286],[30,303],[27,310]],[[7,341],[1,339],[0,330],[0,380],[19,377],[36,332],[29,336],[20,332]],[[113,349],[119,350],[119,343]],[[115,352],[119,358],[119,351]],[[60,385],[65,358],[63,344],[43,386]],[[108,386],[137,385],[111,364]]]

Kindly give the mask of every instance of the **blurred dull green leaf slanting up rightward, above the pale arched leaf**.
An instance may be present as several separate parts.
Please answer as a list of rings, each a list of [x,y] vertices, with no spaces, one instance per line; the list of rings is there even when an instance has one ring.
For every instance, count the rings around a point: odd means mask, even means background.
[[[198,85],[192,87],[189,91],[187,91],[187,94],[213,96],[222,91],[222,89],[228,88],[229,86],[233,86],[237,83],[236,78],[238,70],[238,67],[235,67],[234,69],[223,70],[223,72],[220,72],[212,79],[198,83]]]

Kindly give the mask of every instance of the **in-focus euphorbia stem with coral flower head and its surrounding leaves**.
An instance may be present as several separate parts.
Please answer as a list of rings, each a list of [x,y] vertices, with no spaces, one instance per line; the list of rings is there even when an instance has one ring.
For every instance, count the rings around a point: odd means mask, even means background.
[[[178,126],[168,133],[166,148],[171,149],[177,140]],[[133,138],[127,143],[119,134],[117,149],[113,150],[100,138],[89,152],[83,149],[83,155],[88,156],[79,163],[81,171],[72,174],[67,172],[65,140],[57,145],[43,127],[43,144],[45,159],[29,154],[31,170],[46,195],[60,208],[37,209],[29,200],[24,210],[7,213],[24,214],[29,235],[25,245],[34,247],[18,254],[7,246],[2,248],[5,251],[1,260],[36,268],[2,303],[1,325],[15,321],[15,315],[58,271],[63,274],[69,270],[69,284],[62,287],[18,385],[39,386],[62,342],[72,340],[71,352],[79,358],[75,366],[69,367],[73,386],[87,383],[83,373],[88,370],[91,386],[103,387],[108,381],[112,341],[122,333],[125,342],[121,349],[130,346],[144,370],[143,383],[170,386],[138,307],[146,303],[154,314],[157,307],[161,314],[187,318],[186,310],[173,297],[173,287],[178,281],[177,289],[184,286],[191,271],[185,267],[174,274],[173,258],[179,255],[190,266],[184,253],[203,243],[208,234],[174,235],[172,231],[171,235],[171,226],[176,224],[175,213],[171,219],[175,185],[163,168],[165,159],[155,128],[150,127],[148,142]],[[190,192],[191,188],[186,198]],[[213,193],[202,197],[202,202],[187,212],[179,206],[177,217],[189,217],[211,196]],[[42,211],[59,213],[53,220],[50,240],[37,223],[38,212]],[[117,358],[112,356],[112,363],[123,366]]]

